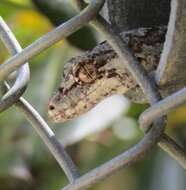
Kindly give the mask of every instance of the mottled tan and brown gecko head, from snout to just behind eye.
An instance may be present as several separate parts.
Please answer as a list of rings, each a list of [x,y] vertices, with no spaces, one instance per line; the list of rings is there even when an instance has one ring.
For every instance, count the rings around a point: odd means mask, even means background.
[[[107,63],[93,55],[87,52],[65,64],[62,83],[48,105],[49,118],[54,122],[80,116],[109,95],[109,77],[103,69]]]

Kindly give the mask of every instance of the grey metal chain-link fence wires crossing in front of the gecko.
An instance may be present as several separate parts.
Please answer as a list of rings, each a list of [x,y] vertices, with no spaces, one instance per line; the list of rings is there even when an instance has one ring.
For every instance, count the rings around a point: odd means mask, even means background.
[[[4,92],[6,92],[0,100],[0,111],[2,112],[15,104],[25,114],[26,119],[32,124],[44,143],[48,146],[68,177],[70,183],[63,188],[64,190],[88,188],[120,168],[132,165],[156,144],[168,152],[186,169],[185,151],[174,140],[164,134],[165,115],[186,101],[186,89],[184,88],[161,100],[155,80],[149,80],[148,75],[139,66],[138,61],[123,42],[122,38],[99,15],[99,11],[104,5],[104,0],[93,0],[89,5],[81,0],[75,0],[75,2],[79,9],[82,9],[77,16],[55,28],[23,50],[4,20],[0,18],[0,37],[12,55],[10,59],[0,65],[0,85],[3,87]],[[39,113],[21,95],[26,90],[30,78],[29,65],[26,62],[88,22],[103,34],[113,49],[118,53],[125,67],[131,72],[144,94],[146,94],[151,107],[142,113],[139,118],[140,127],[145,132],[140,142],[107,163],[80,176],[77,167],[65,151],[63,145],[56,138],[54,132]],[[17,78],[14,85],[10,88],[5,79],[11,72],[16,70],[18,72]]]

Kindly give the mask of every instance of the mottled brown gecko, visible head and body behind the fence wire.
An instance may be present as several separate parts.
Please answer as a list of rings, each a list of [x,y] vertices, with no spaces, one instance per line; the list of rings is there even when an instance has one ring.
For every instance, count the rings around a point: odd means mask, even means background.
[[[147,72],[156,69],[166,27],[140,28],[122,33]],[[70,59],[64,66],[63,81],[48,107],[54,122],[64,122],[86,113],[104,98],[125,94],[137,84],[107,42]]]

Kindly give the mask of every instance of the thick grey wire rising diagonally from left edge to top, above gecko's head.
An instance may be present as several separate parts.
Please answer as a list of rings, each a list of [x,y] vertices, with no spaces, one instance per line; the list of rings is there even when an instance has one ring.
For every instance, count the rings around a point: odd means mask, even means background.
[[[47,33],[33,42],[30,46],[26,47],[22,52],[5,61],[4,64],[0,65],[0,81],[4,80],[11,72],[15,71],[19,66],[38,55],[43,50],[86,25],[97,15],[103,4],[104,0],[91,1],[91,3],[77,16],[74,16],[68,20],[68,22],[61,24],[53,31]]]

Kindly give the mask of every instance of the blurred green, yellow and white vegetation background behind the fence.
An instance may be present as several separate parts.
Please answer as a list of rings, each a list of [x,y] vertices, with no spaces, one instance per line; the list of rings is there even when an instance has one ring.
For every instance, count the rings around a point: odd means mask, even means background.
[[[76,13],[68,0],[0,0],[0,15],[22,47]],[[32,59],[31,81],[24,94],[67,146],[81,174],[127,150],[143,136],[137,118],[147,105],[131,104],[124,97],[108,99],[90,113],[68,123],[54,125],[47,118],[47,102],[59,85],[63,64],[100,40],[101,37],[87,26]],[[0,62],[8,56],[0,43]],[[101,120],[99,115],[102,115]],[[169,115],[166,130],[186,148],[185,124],[186,107],[183,105]],[[186,172],[155,147],[142,161],[91,189],[184,190],[185,179]],[[63,171],[23,114],[15,107],[1,113],[0,190],[59,190],[67,183]]]

